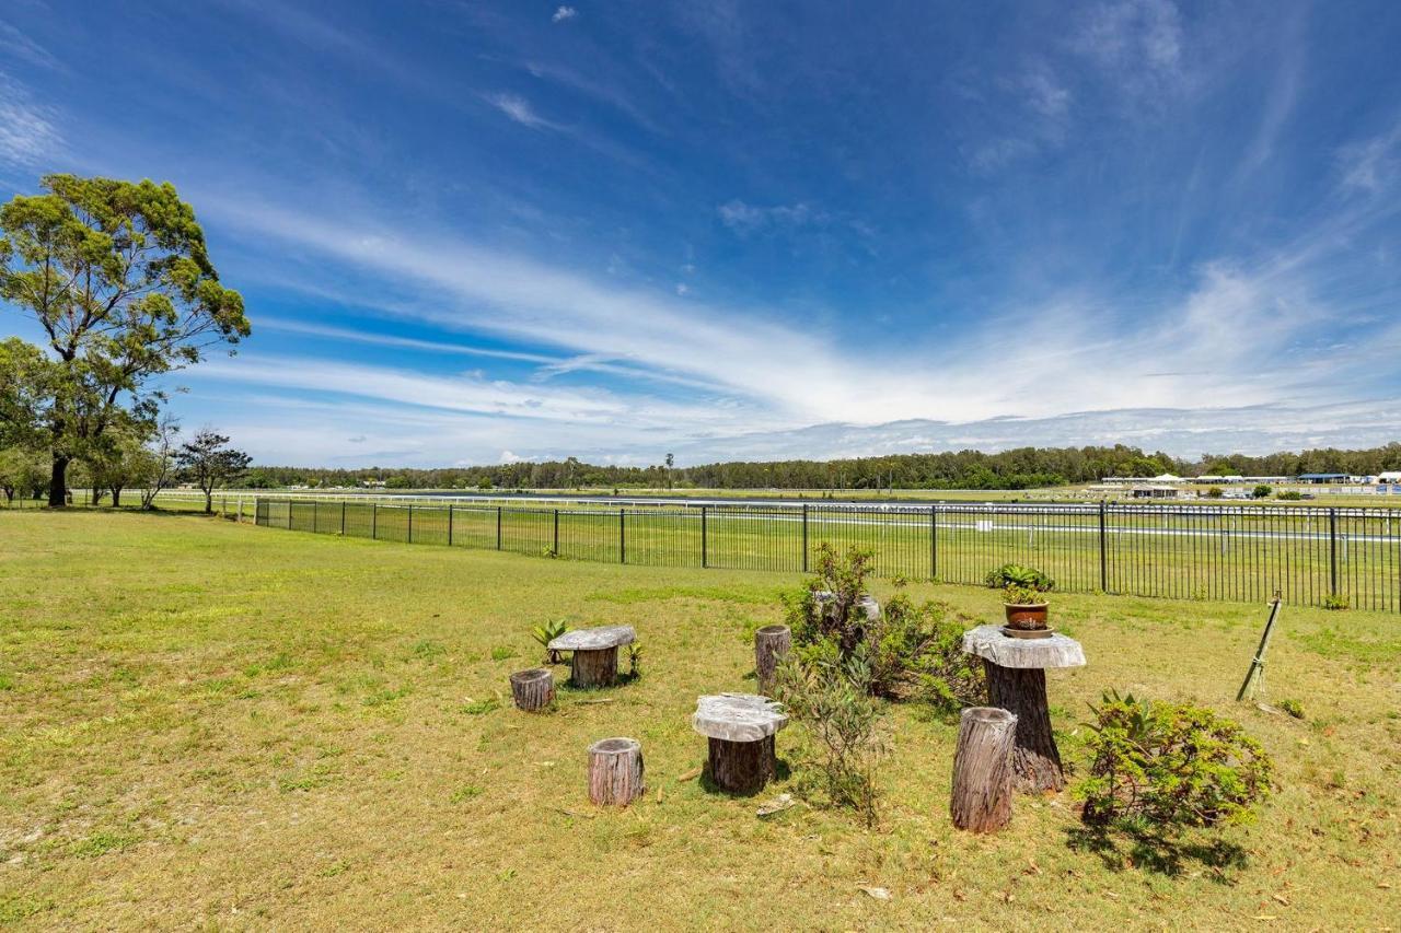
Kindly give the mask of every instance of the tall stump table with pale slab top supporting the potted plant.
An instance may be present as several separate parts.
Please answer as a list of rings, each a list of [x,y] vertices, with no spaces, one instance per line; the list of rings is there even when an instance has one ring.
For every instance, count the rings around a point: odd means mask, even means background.
[[[1027,793],[1062,790],[1065,770],[1051,733],[1047,706],[1047,668],[1082,667],[1080,643],[1065,635],[1014,639],[1000,626],[979,625],[964,632],[964,651],[982,658],[988,671],[988,705],[1017,717],[1012,747],[1013,786]]]

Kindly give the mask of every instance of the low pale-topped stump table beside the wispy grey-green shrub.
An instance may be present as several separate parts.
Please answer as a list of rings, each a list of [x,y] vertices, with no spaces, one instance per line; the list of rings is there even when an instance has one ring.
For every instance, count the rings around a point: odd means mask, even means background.
[[[773,779],[773,735],[785,726],[783,707],[754,693],[702,696],[691,717],[691,727],[710,744],[710,780],[733,794],[751,794]]]

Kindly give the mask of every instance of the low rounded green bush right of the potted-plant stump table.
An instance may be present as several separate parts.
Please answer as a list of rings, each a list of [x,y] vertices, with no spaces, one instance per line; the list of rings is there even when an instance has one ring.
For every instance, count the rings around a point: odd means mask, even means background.
[[[1094,709],[1083,820],[1135,832],[1248,822],[1274,765],[1238,724],[1210,709],[1104,695]]]

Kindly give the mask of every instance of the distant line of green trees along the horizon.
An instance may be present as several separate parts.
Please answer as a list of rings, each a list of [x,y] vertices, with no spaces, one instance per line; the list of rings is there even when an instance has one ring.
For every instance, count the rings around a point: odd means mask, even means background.
[[[1309,450],[1265,457],[1203,454],[1195,461],[1136,447],[1020,447],[998,454],[974,450],[897,454],[855,459],[733,461],[700,466],[605,466],[573,457],[563,461],[495,466],[405,469],[370,466],[326,469],[254,466],[254,488],[356,486],[382,482],[389,489],[1035,489],[1094,482],[1104,476],[1240,474],[1295,476],[1401,469],[1401,443],[1372,450]]]

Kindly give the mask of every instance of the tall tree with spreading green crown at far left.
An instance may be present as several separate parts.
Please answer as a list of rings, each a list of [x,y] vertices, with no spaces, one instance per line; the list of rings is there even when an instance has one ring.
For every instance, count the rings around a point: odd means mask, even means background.
[[[248,336],[205,233],[174,185],[45,175],[0,207],[0,300],[43,329],[56,363],[46,412],[49,504],[67,468],[119,419],[154,420],[151,380]]]

